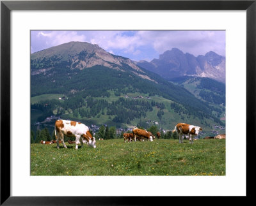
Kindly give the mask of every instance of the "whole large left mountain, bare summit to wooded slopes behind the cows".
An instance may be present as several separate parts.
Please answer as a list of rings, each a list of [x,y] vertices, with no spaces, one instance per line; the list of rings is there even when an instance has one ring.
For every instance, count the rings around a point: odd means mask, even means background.
[[[51,128],[56,117],[116,128],[154,124],[173,129],[177,122],[204,131],[225,126],[220,106],[206,101],[207,94],[194,94],[90,43],[71,42],[31,54],[31,121],[40,122],[40,129]]]

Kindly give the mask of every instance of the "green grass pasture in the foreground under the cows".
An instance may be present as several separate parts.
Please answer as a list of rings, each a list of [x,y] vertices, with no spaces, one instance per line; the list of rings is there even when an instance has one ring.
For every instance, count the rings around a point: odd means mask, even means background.
[[[225,140],[159,139],[124,143],[97,141],[97,148],[75,144],[31,144],[31,175],[225,175]]]

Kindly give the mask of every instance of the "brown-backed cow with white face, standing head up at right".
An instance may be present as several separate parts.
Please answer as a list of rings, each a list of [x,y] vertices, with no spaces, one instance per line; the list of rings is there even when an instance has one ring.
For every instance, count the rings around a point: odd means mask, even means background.
[[[179,142],[183,143],[183,138],[185,136],[189,136],[189,143],[193,143],[193,137],[197,136],[200,131],[202,131],[202,128],[198,126],[193,126],[186,123],[178,123],[176,124],[175,128],[172,132],[177,131],[179,134]]]

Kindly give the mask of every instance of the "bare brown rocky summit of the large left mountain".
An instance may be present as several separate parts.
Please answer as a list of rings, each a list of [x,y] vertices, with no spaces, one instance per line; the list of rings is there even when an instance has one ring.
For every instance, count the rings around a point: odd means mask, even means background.
[[[37,63],[41,61],[43,62],[42,65],[38,65]],[[31,62],[32,75],[52,70],[60,65],[65,65],[65,68],[71,70],[104,66],[120,71],[131,70],[132,73],[141,78],[152,80],[131,59],[110,54],[99,45],[88,42],[70,41],[56,47],[47,48],[31,54]]]

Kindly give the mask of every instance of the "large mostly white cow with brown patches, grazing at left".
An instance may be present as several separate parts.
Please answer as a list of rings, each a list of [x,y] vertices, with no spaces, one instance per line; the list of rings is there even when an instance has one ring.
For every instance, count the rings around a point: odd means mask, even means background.
[[[55,136],[57,142],[57,148],[59,149],[59,139],[62,141],[63,146],[67,148],[64,142],[64,135],[70,137],[76,137],[76,149],[78,149],[78,144],[81,142],[86,143],[88,146],[96,148],[96,140],[89,131],[88,126],[75,121],[68,121],[59,119],[55,122]]]

